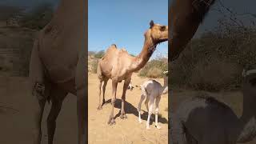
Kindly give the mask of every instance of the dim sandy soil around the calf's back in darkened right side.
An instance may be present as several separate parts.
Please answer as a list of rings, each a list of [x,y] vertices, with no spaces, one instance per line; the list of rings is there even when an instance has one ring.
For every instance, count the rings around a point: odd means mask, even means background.
[[[170,110],[175,111],[178,108],[178,105],[183,102],[186,98],[190,98],[198,94],[198,91],[194,90],[174,90],[171,101],[170,101]],[[218,101],[226,103],[227,106],[230,106],[234,113],[240,117],[242,115],[242,93],[240,91],[222,91],[219,93],[209,93],[214,98],[217,98]],[[255,144],[256,140],[252,142],[246,142],[245,144]]]

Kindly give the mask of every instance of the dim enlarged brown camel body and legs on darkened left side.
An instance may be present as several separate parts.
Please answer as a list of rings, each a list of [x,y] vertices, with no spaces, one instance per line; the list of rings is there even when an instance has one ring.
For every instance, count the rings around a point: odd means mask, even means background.
[[[36,104],[34,144],[41,143],[47,100],[52,102],[47,118],[48,143],[53,143],[56,118],[68,93],[77,96],[78,144],[86,143],[86,7],[83,0],[62,0],[34,41],[29,76],[31,98]]]

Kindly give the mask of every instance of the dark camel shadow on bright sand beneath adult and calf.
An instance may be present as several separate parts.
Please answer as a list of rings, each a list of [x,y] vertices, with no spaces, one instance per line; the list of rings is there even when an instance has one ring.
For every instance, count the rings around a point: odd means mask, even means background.
[[[107,100],[107,101],[104,103],[104,105],[105,105],[105,104],[108,104],[108,103],[111,104],[111,99]],[[116,114],[116,115],[114,116],[114,119],[115,119],[115,118],[118,118],[118,117],[121,115],[121,106],[122,106],[122,100],[117,98],[116,101],[115,101],[114,107],[115,107],[115,108],[118,108],[118,109],[120,109],[120,110],[119,110],[118,114]],[[126,111],[126,114],[134,114],[135,116],[138,117],[138,110],[137,110],[137,108],[134,107],[134,106],[133,106],[132,104],[130,104],[129,102],[125,102],[125,111]],[[142,110],[142,111],[143,111],[143,114],[141,114],[141,118],[142,118],[143,120],[147,120],[148,112],[146,112],[145,110]],[[155,118],[154,114],[151,114],[151,117],[153,118],[153,121],[154,121],[154,118]],[[150,120],[150,125],[153,123],[153,121]],[[161,115],[159,115],[159,114],[158,114],[158,122],[161,122],[161,123],[163,123],[163,124],[168,123],[167,119],[166,119],[166,118],[162,118]]]

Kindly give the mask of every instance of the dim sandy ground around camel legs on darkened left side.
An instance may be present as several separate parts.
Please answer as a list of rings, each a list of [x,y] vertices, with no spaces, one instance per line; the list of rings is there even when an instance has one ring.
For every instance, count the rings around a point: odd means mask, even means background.
[[[34,102],[30,98],[27,78],[0,77],[0,143],[29,144],[32,141],[31,123]],[[42,119],[42,144],[47,143],[46,104]],[[57,119],[55,144],[77,143],[76,97],[69,94]]]

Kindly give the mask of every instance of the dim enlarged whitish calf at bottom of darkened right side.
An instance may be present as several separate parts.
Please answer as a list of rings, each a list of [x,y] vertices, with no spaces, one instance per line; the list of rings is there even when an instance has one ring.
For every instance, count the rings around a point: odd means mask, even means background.
[[[243,111],[240,118],[229,106],[208,94],[183,102],[173,116],[173,143],[235,144],[256,136],[256,66],[243,72]]]

